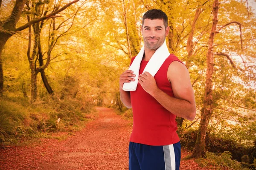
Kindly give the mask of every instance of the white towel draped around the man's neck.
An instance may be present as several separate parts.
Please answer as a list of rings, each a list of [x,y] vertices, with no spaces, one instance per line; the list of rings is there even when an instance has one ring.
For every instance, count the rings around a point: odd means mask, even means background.
[[[144,45],[140,49],[139,54],[137,57],[135,57],[134,61],[132,62],[129,70],[132,70],[136,76],[135,81],[131,82],[125,82],[123,85],[123,90],[124,91],[136,91],[137,85],[138,85],[138,77],[139,77],[139,71],[140,71],[140,63],[143,58],[144,54]],[[163,42],[163,45],[161,45],[153,54],[151,59],[149,59],[148,64],[146,65],[143,73],[145,71],[149,72],[153,77],[157,74],[157,71],[159,68],[162,66],[163,62],[166,60],[167,57],[169,57],[170,53],[166,45],[166,41]]]

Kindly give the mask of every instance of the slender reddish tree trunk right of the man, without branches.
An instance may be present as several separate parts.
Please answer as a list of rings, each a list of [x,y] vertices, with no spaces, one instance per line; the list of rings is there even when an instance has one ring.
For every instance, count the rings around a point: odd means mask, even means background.
[[[216,26],[218,23],[218,0],[215,0],[213,3],[212,14],[213,14],[213,23],[212,31],[210,33],[209,42],[208,42],[208,51],[207,51],[207,75],[206,75],[206,84],[204,92],[204,106],[201,112],[201,121],[198,128],[198,135],[193,149],[191,157],[201,158],[205,154],[205,137],[207,126],[212,114],[212,74],[214,72],[214,56],[213,56],[213,40],[216,32]]]

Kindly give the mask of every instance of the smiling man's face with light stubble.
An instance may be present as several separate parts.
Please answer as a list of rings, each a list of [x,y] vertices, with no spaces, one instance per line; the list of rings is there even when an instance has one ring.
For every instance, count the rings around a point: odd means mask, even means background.
[[[163,20],[145,19],[143,27],[141,28],[145,48],[156,50],[159,48],[165,37],[169,34],[169,26],[165,29]]]

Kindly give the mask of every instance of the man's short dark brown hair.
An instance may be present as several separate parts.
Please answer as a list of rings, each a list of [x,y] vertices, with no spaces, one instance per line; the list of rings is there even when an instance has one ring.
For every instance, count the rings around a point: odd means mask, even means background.
[[[151,9],[149,11],[146,11],[146,13],[142,17],[142,26],[144,24],[145,19],[155,20],[160,19],[163,20],[163,25],[165,28],[168,27],[168,17],[166,13],[161,11],[160,9]]]

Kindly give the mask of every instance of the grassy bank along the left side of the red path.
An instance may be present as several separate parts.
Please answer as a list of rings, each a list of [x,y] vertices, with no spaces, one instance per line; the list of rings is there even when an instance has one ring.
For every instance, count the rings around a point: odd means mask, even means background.
[[[74,99],[39,100],[30,104],[28,98],[3,96],[0,98],[0,145],[20,145],[24,138],[28,141],[25,143],[39,138],[66,139],[89,120],[87,115],[93,108],[83,111],[80,108],[81,104]],[[67,134],[52,136],[52,132]]]

